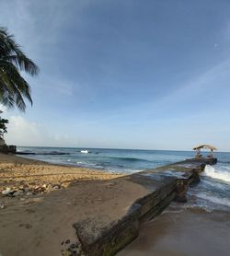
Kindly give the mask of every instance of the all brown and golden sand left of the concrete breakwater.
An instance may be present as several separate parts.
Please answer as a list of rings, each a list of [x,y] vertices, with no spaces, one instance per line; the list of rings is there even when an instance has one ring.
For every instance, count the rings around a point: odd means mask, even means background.
[[[103,226],[118,219],[134,199],[146,193],[120,176],[0,155],[2,190],[44,183],[69,185],[29,196],[0,195],[0,203],[6,206],[0,209],[0,255],[62,255],[62,250],[77,242],[76,222],[93,218]]]

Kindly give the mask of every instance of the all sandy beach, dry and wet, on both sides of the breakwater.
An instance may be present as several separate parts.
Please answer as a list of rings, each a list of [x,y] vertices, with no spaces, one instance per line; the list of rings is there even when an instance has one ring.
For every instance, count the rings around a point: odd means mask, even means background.
[[[0,255],[69,255],[71,245],[80,251],[75,223],[93,219],[97,234],[146,194],[121,177],[0,155]],[[10,193],[2,194],[7,188]],[[139,237],[118,255],[228,255],[229,227],[229,213],[173,203],[143,223]]]

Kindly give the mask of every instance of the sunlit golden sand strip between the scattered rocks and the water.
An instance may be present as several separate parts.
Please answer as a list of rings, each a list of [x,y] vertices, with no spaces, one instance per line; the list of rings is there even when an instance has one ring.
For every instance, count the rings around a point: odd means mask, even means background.
[[[123,175],[109,173],[98,169],[87,169],[31,159],[15,155],[0,154],[0,190],[6,187],[66,188],[79,180],[109,180]]]

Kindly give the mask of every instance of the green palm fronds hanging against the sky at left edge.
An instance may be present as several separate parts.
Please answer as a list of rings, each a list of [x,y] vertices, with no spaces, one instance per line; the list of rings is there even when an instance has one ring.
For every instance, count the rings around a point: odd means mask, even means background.
[[[28,99],[31,105],[32,99],[29,84],[20,75],[21,71],[35,76],[39,68],[21,51],[14,36],[8,34],[7,29],[0,28],[0,103],[25,111],[24,99]]]

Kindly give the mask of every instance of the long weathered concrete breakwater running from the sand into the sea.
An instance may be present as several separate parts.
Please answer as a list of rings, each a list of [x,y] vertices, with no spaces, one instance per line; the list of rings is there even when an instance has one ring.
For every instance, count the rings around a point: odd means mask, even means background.
[[[66,250],[66,255],[76,255],[75,248],[78,248],[78,255],[115,255],[138,236],[142,222],[159,215],[173,200],[186,202],[189,186],[199,182],[200,173],[206,165],[216,162],[216,158],[192,158],[121,177],[122,180],[143,186],[146,194],[133,200],[132,206],[120,218],[114,216],[112,221],[109,219],[103,224],[95,218],[75,223],[73,227],[80,241],[80,250],[79,245],[72,244]]]

